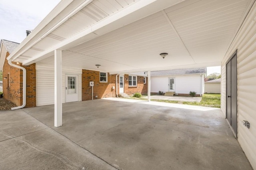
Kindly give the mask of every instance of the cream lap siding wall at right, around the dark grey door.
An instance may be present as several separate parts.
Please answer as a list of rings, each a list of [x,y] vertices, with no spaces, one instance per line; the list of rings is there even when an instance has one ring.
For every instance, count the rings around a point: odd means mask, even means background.
[[[256,169],[256,3],[222,60],[221,109],[226,115],[226,62],[237,49],[238,142]],[[242,121],[250,122],[250,129]]]

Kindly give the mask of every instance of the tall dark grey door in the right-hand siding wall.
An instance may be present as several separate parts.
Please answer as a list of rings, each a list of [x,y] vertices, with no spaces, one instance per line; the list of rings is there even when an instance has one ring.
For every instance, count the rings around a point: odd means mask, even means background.
[[[226,64],[226,119],[237,136],[237,61],[236,52]]]

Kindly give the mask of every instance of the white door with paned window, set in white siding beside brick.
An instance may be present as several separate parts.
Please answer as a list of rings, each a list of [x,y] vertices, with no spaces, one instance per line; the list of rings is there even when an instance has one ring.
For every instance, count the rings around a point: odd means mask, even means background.
[[[78,101],[78,75],[66,75],[66,103]]]

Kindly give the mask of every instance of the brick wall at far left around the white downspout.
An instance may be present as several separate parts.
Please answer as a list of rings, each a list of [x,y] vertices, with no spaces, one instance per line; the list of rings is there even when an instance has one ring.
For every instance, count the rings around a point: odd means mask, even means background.
[[[10,54],[6,53],[6,58]],[[14,63],[16,64],[16,63]],[[21,64],[17,64],[22,66]],[[36,106],[36,64],[22,66],[26,69],[26,107]],[[8,79],[9,73],[9,79]],[[10,87],[8,87],[8,81]],[[23,103],[23,71],[16,67],[10,66],[5,59],[3,66],[3,94],[4,99],[11,101],[17,106]]]

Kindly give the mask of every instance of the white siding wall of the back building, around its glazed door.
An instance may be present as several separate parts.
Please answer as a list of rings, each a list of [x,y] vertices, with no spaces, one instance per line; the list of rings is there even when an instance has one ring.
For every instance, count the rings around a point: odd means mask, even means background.
[[[169,91],[169,77],[174,78],[175,93],[188,94],[190,91],[195,91],[200,94],[201,76],[166,76],[166,77],[151,77],[151,92],[158,93],[159,91]]]

